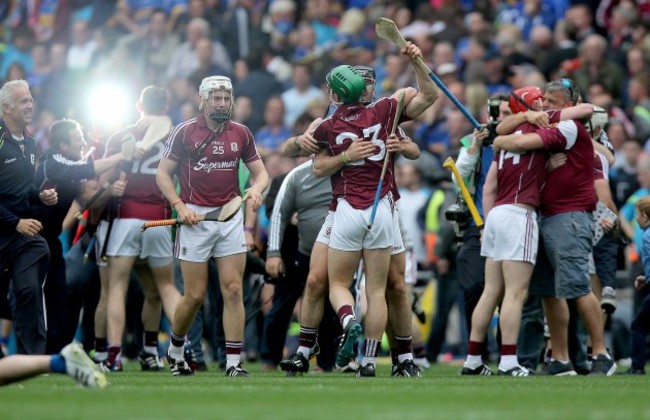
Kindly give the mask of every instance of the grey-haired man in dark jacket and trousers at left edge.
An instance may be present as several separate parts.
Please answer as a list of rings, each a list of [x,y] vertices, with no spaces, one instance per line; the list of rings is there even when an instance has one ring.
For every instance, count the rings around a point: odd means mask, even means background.
[[[26,128],[32,120],[34,100],[24,80],[7,82],[0,89],[0,301],[13,282],[14,330],[18,353],[43,354],[47,321],[43,283],[49,250],[38,234],[43,225],[33,219],[31,203],[54,205],[53,189],[33,186],[36,142]]]

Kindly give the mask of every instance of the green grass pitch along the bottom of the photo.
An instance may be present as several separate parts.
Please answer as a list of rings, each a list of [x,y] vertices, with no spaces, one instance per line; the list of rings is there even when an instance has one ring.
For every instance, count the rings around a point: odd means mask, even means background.
[[[461,377],[436,365],[421,379],[340,373],[286,378],[247,364],[249,378],[211,366],[194,377],[109,375],[105,390],[47,375],[0,388],[0,419],[650,419],[647,376]]]

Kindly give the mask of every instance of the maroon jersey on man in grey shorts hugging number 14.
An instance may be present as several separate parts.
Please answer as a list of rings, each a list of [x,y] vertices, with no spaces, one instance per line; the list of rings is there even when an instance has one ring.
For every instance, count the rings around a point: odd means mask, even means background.
[[[537,130],[544,148],[567,155],[564,165],[546,175],[540,212],[544,216],[570,211],[594,211],[594,146],[587,129],[580,122],[560,121],[560,111],[549,113],[552,128]]]

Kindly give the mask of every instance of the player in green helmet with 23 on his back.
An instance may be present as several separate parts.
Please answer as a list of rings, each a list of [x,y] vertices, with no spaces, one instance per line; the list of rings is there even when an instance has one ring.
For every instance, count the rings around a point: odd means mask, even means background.
[[[412,60],[421,55],[419,48],[411,43],[402,52]],[[375,376],[375,358],[387,322],[386,279],[394,243],[392,182],[386,182],[380,191],[372,229],[368,229],[367,224],[382,162],[389,152],[387,141],[397,138],[390,134],[390,129],[395,118],[414,118],[437,98],[435,84],[426,71],[419,66],[414,68],[420,92],[407,90],[401,116],[395,115],[395,98],[382,98],[373,106],[364,107],[360,101],[366,89],[363,76],[350,66],[334,68],[326,80],[330,98],[339,106],[314,131],[314,138],[322,149],[316,156],[314,173],[331,176],[332,205],[336,210],[327,271],[330,301],[345,331],[337,356],[339,364],[343,359],[354,357],[353,344],[363,331],[354,314],[354,299],[349,287],[360,259],[364,260],[368,311],[364,357],[358,376]],[[349,149],[350,156],[346,156],[351,144],[356,147]]]

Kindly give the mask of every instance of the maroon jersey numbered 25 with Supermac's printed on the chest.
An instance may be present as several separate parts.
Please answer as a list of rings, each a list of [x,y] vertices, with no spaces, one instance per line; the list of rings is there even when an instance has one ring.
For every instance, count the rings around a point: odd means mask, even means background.
[[[250,163],[260,158],[246,126],[228,121],[215,133],[203,114],[172,131],[163,156],[178,164],[181,200],[205,207],[223,206],[240,195],[239,160]]]

